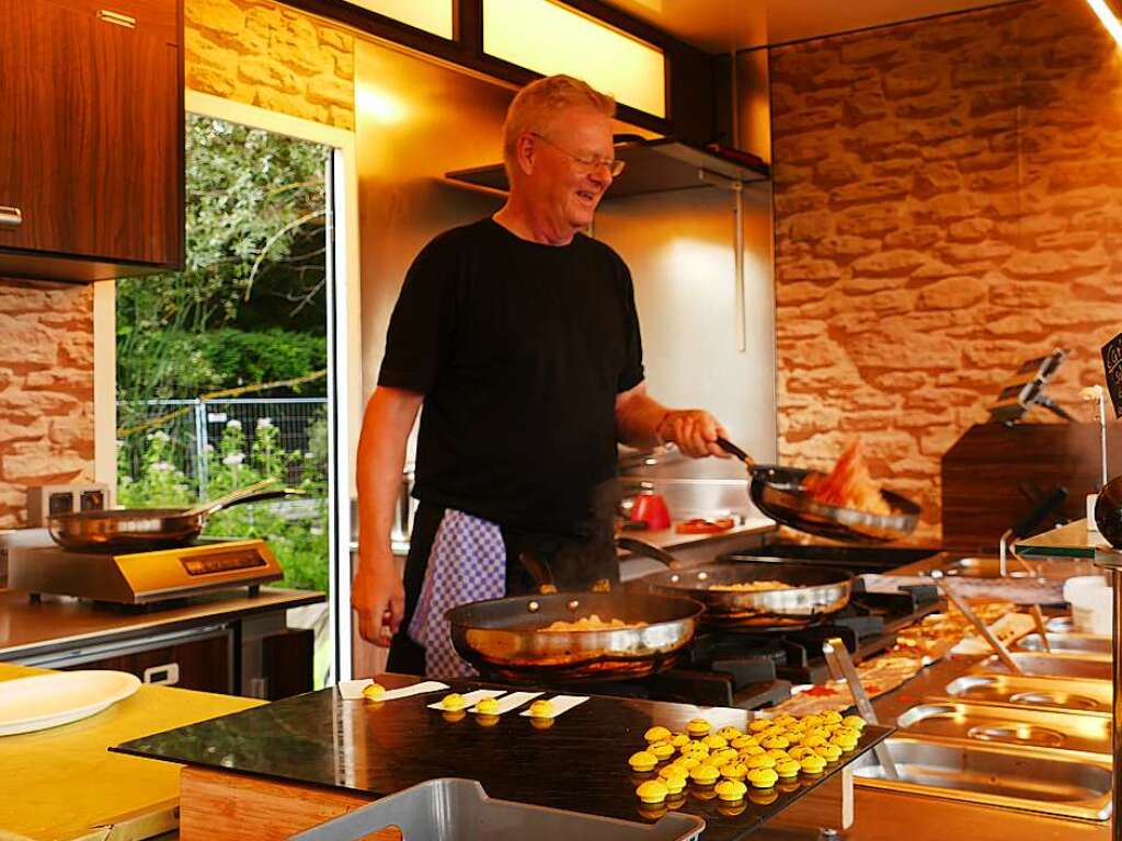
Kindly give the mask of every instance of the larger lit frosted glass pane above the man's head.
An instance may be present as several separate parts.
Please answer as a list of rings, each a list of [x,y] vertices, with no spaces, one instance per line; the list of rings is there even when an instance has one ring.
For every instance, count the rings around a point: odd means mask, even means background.
[[[484,52],[543,75],[578,76],[623,104],[666,115],[662,50],[550,0],[484,0]]]

